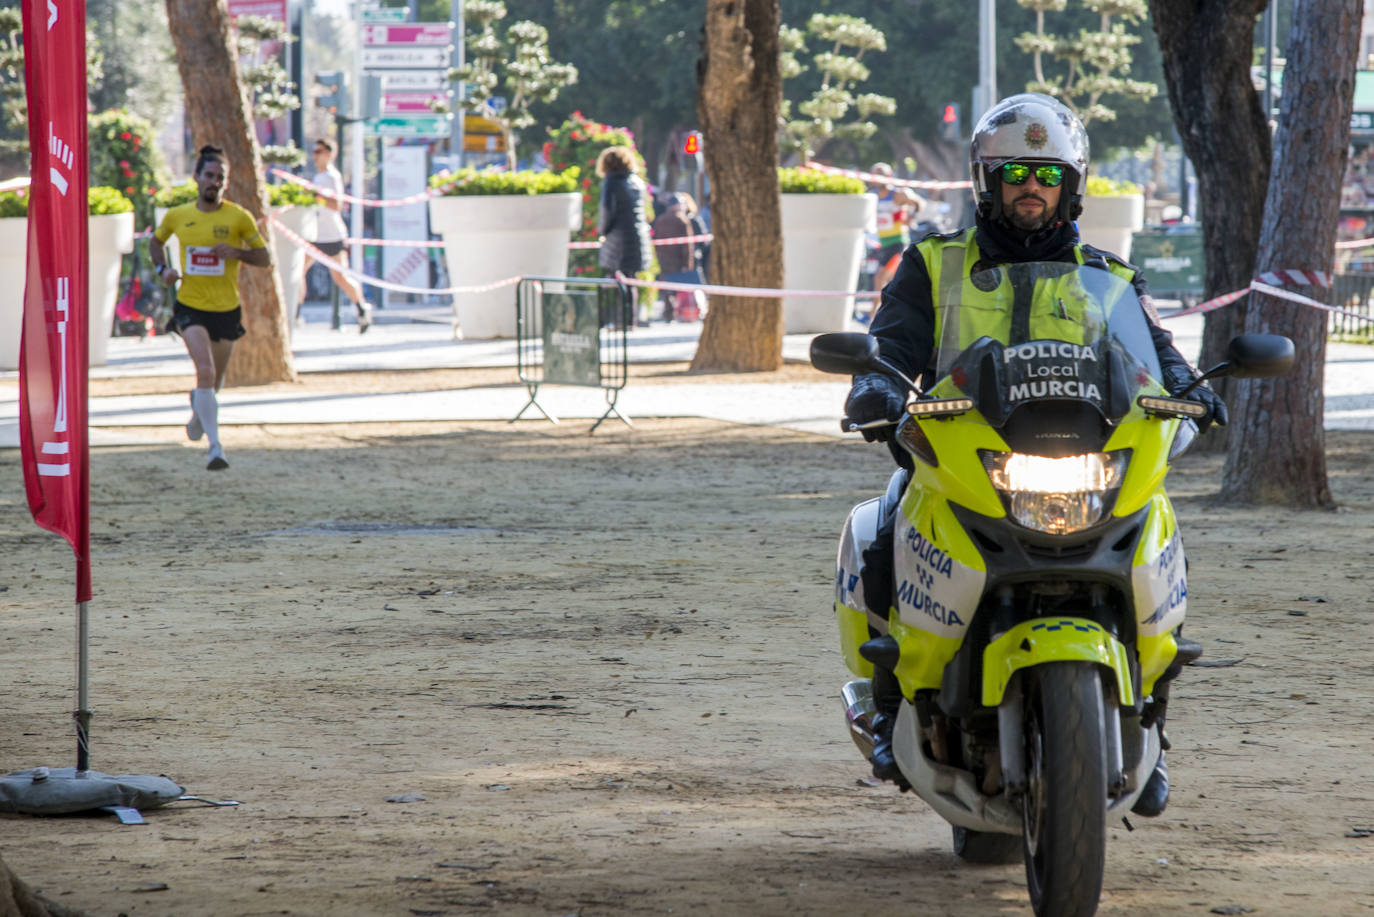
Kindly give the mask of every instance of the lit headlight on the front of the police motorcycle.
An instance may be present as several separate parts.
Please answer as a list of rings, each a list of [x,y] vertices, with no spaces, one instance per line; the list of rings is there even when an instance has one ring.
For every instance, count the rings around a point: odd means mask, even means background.
[[[980,450],[978,456],[1014,521],[1066,535],[1096,525],[1112,511],[1131,450],[1068,458]]]

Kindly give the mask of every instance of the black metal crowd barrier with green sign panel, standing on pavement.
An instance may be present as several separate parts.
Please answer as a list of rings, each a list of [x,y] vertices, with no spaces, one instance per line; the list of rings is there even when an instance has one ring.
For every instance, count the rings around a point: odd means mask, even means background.
[[[606,412],[589,433],[611,415],[633,426],[616,407],[629,377],[632,296],[629,287],[610,278],[521,278],[515,290],[515,363],[529,401],[511,423],[530,407],[558,423],[539,403],[539,386],[581,385],[606,395]]]

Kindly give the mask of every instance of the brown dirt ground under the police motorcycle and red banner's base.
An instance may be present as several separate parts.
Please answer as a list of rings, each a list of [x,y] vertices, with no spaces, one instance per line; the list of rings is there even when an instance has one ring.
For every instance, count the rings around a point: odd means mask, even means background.
[[[302,388],[420,377],[481,378]],[[844,729],[834,539],[885,452],[587,428],[229,428],[223,474],[180,430],[95,450],[92,764],[242,804],[5,815],[0,857],[96,917],[1029,914]],[[1374,913],[1374,436],[1329,450],[1333,513],[1172,477],[1206,665],[1102,914]],[[0,557],[0,771],[69,766],[71,554],[16,450]]]

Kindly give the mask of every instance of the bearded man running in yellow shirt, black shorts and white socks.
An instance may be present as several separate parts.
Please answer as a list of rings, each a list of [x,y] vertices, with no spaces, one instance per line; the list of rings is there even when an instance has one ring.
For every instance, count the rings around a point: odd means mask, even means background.
[[[181,335],[195,364],[185,434],[192,441],[209,437],[205,467],[210,472],[229,466],[220,445],[220,407],[214,393],[224,384],[234,342],[246,333],[239,305],[239,263],[272,267],[272,254],[253,214],[224,199],[228,179],[224,151],[201,147],[195,161],[195,201],[168,210],[150,243],[158,278],[176,287],[176,305],[166,330]],[[173,235],[180,249],[180,265],[176,267],[168,264],[165,247]]]

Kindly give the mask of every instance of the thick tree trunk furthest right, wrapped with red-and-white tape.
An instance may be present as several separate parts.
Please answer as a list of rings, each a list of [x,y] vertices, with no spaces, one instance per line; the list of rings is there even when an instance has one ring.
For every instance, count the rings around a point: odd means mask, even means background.
[[[1289,33],[1274,181],[1264,201],[1257,267],[1331,271],[1341,179],[1355,103],[1360,0],[1297,0]],[[1319,287],[1292,287],[1325,301]],[[1286,377],[1241,379],[1231,415],[1221,499],[1232,503],[1330,506],[1326,481],[1326,312],[1252,294],[1246,331],[1293,338]]]

